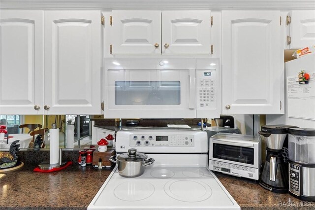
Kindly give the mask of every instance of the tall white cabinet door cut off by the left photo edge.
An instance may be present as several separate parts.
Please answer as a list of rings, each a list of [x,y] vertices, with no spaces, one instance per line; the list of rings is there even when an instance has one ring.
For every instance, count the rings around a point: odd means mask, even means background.
[[[42,114],[43,12],[0,11],[0,114]]]

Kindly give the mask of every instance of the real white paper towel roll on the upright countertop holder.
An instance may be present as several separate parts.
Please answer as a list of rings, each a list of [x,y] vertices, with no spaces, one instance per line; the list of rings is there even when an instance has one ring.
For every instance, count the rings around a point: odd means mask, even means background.
[[[49,129],[50,145],[49,145],[49,163],[59,163],[59,129]]]

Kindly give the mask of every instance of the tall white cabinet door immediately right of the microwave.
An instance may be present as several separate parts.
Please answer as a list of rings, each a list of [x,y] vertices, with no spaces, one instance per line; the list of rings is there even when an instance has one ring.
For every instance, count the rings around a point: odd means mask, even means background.
[[[222,12],[222,113],[284,113],[280,11]]]

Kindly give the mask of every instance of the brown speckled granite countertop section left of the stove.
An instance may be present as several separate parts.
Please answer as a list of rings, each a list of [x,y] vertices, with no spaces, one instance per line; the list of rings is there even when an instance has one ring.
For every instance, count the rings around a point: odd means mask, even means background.
[[[33,172],[37,166],[0,172],[0,210],[86,210],[112,171],[76,163],[59,172]]]

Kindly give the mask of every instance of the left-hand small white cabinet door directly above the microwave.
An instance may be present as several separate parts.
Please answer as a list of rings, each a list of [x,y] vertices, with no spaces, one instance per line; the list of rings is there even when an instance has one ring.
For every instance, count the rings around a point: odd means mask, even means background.
[[[161,54],[161,11],[116,10],[112,16],[113,55]]]

